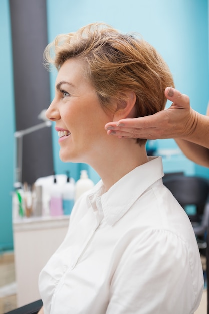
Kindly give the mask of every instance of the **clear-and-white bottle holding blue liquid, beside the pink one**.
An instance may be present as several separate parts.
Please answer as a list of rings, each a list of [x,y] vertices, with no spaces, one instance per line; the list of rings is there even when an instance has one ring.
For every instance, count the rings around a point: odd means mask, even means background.
[[[63,213],[64,215],[70,215],[73,209],[75,200],[75,184],[70,178],[69,172],[67,172],[67,182],[63,186]]]

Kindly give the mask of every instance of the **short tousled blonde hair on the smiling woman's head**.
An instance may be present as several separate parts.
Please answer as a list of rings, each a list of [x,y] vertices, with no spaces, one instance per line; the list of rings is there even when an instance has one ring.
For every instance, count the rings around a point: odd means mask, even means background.
[[[45,65],[59,70],[70,58],[87,61],[85,73],[104,109],[116,99],[124,105],[124,92],[136,94],[137,116],[163,110],[164,90],[174,87],[172,74],[155,48],[142,38],[121,34],[103,23],[93,23],[75,33],[60,34],[44,52]],[[139,144],[145,139],[137,139]]]

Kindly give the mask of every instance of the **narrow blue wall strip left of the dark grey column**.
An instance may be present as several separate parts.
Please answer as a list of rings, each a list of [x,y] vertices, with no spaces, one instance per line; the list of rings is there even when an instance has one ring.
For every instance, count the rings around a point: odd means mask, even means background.
[[[9,1],[0,1],[0,252],[13,245],[11,192],[13,190],[14,93]]]

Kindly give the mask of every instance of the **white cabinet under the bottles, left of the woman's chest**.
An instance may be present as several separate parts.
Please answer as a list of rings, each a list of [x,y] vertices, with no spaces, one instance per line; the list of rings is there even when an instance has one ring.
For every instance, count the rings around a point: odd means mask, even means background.
[[[23,218],[13,222],[17,306],[40,299],[38,277],[62,243],[69,216]]]

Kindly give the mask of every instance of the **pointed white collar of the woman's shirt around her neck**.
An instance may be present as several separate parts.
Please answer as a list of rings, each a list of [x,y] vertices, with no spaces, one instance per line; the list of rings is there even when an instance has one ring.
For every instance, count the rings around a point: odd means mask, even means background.
[[[149,157],[147,163],[133,169],[105,193],[100,181],[89,195],[89,202],[94,211],[96,208],[98,212],[102,211],[107,223],[113,225],[163,175],[161,157]]]

